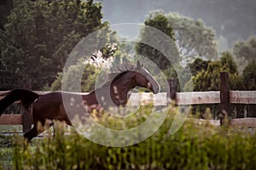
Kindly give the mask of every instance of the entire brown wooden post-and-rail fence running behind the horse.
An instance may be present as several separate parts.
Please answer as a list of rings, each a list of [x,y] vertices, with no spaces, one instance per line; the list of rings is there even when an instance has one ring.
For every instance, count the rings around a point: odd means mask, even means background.
[[[256,91],[230,91],[228,73],[223,72],[220,76],[220,91],[211,92],[182,92],[177,93],[174,80],[169,80],[170,92],[156,95],[131,94],[128,105],[147,105],[153,102],[154,105],[168,105],[169,99],[175,100],[176,105],[201,105],[220,104],[220,111],[230,113],[230,104],[256,104]],[[46,92],[37,92],[45,94]],[[3,92],[0,92],[3,94]],[[32,127],[32,113],[23,111],[19,115],[0,116],[0,125],[22,125],[23,132]],[[220,120],[220,124],[222,124]],[[256,118],[231,119],[230,125],[242,127],[256,127]]]

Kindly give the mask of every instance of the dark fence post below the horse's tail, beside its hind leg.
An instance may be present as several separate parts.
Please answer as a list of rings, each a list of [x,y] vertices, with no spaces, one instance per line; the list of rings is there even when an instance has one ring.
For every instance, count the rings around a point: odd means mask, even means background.
[[[28,132],[32,128],[32,106],[27,110],[22,109],[22,131]]]

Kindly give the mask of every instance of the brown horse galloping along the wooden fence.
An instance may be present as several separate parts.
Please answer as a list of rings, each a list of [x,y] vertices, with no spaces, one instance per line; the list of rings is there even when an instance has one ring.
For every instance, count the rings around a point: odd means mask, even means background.
[[[96,88],[96,90],[86,95],[61,91],[40,95],[26,89],[12,90],[3,94],[5,97],[0,100],[0,116],[15,101],[20,101],[26,109],[33,105],[32,118],[34,126],[24,134],[25,139],[30,141],[46,130],[45,128],[39,128],[38,124],[44,126],[50,121],[48,125],[50,127],[53,125],[54,120],[58,120],[72,126],[70,118],[74,114],[83,112],[82,108],[85,108],[90,113],[93,109],[99,107],[125,106],[130,97],[128,92],[137,86],[148,88],[154,94],[160,92],[160,84],[143,68],[139,61],[137,61],[137,66],[124,68],[120,69],[121,72],[119,73],[112,73],[111,75],[114,78],[104,83],[101,88]],[[82,102],[79,102],[79,100]]]

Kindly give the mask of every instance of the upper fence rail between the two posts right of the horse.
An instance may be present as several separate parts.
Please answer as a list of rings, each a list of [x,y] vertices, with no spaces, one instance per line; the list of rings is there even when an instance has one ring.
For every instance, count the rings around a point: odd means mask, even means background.
[[[220,103],[219,91],[183,92],[176,94],[177,105],[198,105]]]

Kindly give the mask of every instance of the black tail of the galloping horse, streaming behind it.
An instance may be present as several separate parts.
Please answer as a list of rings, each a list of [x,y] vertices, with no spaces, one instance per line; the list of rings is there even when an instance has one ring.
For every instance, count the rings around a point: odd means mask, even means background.
[[[2,96],[4,98],[0,100],[0,116],[3,114],[3,111],[15,101],[20,101],[20,104],[27,110],[35,99],[38,99],[39,94],[26,89],[15,89],[2,94],[1,97]]]

